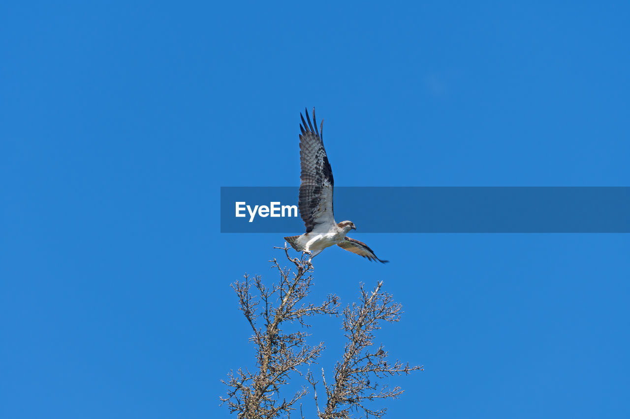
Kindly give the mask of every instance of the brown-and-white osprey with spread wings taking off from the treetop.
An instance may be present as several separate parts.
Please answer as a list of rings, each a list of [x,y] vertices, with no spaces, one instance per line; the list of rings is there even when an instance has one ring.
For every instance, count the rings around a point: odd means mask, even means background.
[[[357,255],[367,257],[369,260],[378,260],[374,251],[364,242],[347,237],[350,230],[357,230],[352,221],[335,222],[333,216],[333,170],[330,168],[324,143],[321,140],[324,121],[317,128],[315,120],[315,108],[313,108],[313,124],[308,111],[306,120],[300,114],[302,123],[300,129],[300,163],[302,173],[300,176],[300,194],[298,207],[300,216],[306,226],[306,233],[299,236],[285,237],[293,249],[304,252],[311,259],[320,254],[326,247],[338,245],[341,249]],[[314,127],[313,127],[314,125]]]

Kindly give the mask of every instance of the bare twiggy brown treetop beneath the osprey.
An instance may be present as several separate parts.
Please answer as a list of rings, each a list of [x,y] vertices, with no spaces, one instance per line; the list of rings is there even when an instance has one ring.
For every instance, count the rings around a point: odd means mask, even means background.
[[[239,418],[258,419],[290,418],[300,401],[303,418],[302,398],[309,391],[308,383],[319,418],[350,418],[352,411],[381,418],[386,409],[370,410],[366,403],[374,399],[398,398],[403,390],[398,386],[381,386],[378,380],[422,369],[398,360],[391,364],[383,345],[374,347],[374,332],[381,328],[383,321],[399,321],[403,313],[401,305],[394,303],[391,294],[381,291],[382,281],[372,291],[367,291],[361,284],[359,301],[343,310],[342,327],[347,339],[343,357],[335,364],[334,377],[329,383],[321,370],[322,383],[319,384],[309,367],[321,355],[324,344],[306,342],[309,336],[305,332],[309,327],[307,319],[314,315],[338,316],[339,298],[328,294],[320,304],[307,303],[313,279],[312,265],[304,255],[299,259],[290,257],[286,246],[274,249],[284,250],[293,265],[290,269],[281,266],[277,259],[270,260],[272,268],[280,274],[277,283],[267,287],[260,276],[245,274],[242,281],[232,284],[239,299],[239,310],[251,328],[250,340],[256,347],[256,369],[241,368],[230,372],[227,382],[223,381],[229,390],[227,396],[221,398],[222,403],[227,403],[231,413],[237,413]],[[287,321],[301,325],[302,330],[284,332],[280,326]],[[289,384],[290,376],[306,376],[306,381],[289,399],[282,398],[280,391]],[[326,403],[321,408],[318,400],[320,386],[326,394]]]

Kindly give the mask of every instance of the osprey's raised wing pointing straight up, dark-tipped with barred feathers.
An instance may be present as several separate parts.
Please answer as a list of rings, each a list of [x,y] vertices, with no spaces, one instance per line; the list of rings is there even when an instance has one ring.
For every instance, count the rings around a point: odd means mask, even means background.
[[[306,111],[306,109],[305,109]],[[315,108],[313,108],[313,123],[309,113],[306,113],[306,120],[300,114],[302,123],[300,129],[300,163],[302,172],[300,175],[300,196],[299,209],[300,216],[306,226],[306,232],[312,232],[313,228],[319,224],[334,225],[333,216],[333,170],[330,168],[324,143],[321,140],[320,131],[323,130],[322,120],[317,129],[315,120]],[[314,128],[313,128],[314,126]]]

